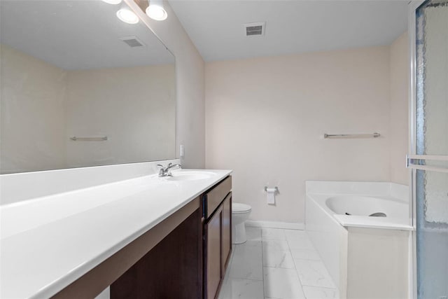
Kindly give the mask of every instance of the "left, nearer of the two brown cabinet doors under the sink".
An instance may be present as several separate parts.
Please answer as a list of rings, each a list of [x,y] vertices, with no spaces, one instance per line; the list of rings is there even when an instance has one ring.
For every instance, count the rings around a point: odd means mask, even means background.
[[[223,206],[216,209],[215,214],[209,218],[205,225],[206,236],[206,269],[205,269],[205,293],[207,299],[214,299],[222,278],[221,268],[221,223],[223,218]]]

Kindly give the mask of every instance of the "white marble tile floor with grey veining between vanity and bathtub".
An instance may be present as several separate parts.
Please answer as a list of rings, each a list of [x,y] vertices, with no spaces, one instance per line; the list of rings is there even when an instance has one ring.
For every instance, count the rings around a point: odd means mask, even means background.
[[[246,234],[234,245],[219,299],[338,298],[307,232],[247,227]]]

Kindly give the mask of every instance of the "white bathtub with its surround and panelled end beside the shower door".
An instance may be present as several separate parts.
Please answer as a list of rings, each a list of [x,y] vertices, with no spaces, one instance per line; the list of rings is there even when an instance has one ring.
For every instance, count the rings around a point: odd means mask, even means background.
[[[306,230],[340,297],[406,298],[407,186],[307,181],[306,193]]]

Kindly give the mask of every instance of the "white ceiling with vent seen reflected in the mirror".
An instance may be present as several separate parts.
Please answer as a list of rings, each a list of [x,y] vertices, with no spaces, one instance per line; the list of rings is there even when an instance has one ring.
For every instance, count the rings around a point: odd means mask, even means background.
[[[118,20],[118,8],[99,0],[0,0],[0,41],[69,70],[174,63],[146,25]],[[125,36],[146,46],[130,48]]]

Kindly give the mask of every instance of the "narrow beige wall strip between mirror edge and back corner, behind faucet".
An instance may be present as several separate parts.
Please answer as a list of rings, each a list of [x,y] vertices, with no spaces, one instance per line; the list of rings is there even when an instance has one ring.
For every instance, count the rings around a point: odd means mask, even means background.
[[[132,0],[126,0],[134,9],[139,9]],[[176,157],[179,146],[185,146],[184,168],[205,166],[205,107],[204,107],[204,60],[188,37],[181,22],[164,2],[167,20],[151,20],[141,11],[140,18],[159,36],[165,46],[176,56]]]

